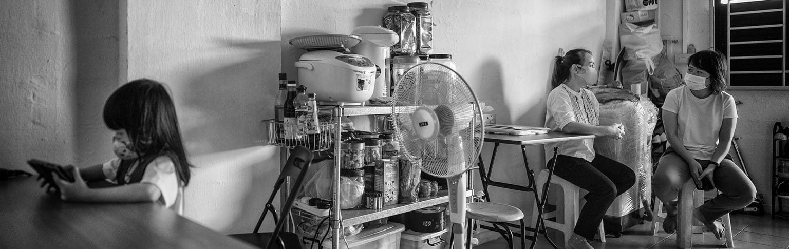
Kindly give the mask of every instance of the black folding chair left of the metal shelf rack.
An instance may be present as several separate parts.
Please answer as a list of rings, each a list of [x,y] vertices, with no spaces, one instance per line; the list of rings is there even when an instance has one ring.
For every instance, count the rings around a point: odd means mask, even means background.
[[[301,190],[301,183],[304,181],[310,163],[312,163],[312,151],[309,151],[306,147],[297,146],[290,150],[288,161],[285,167],[283,167],[282,172],[279,173],[277,182],[274,184],[274,189],[271,191],[271,196],[268,197],[268,202],[264,207],[263,214],[260,214],[260,219],[257,220],[255,230],[253,230],[252,233],[231,234],[230,236],[262,248],[274,248],[272,246],[275,241],[278,243],[279,248],[301,248],[298,236],[293,232],[282,232],[282,227],[288,222],[286,216],[290,213],[290,209],[293,207],[294,201],[296,200],[296,195]],[[282,212],[280,213],[282,217],[278,217],[277,210],[274,209],[271,202],[274,201],[286,177],[296,173],[298,177],[296,177],[294,181],[293,191],[290,191],[290,195],[288,195],[285,203],[282,203]],[[258,230],[260,230],[260,224],[263,223],[269,211],[271,211],[271,216],[274,217],[274,222],[276,223],[274,232],[258,232]]]

